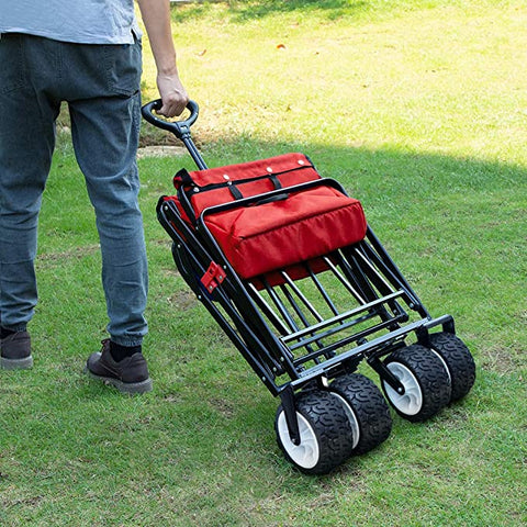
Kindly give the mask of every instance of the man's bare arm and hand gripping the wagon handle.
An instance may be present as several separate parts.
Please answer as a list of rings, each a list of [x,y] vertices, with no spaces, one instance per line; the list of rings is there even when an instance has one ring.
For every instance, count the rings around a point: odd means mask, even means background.
[[[189,97],[179,79],[170,26],[170,0],[137,0],[157,67],[157,88],[167,117],[179,115]]]

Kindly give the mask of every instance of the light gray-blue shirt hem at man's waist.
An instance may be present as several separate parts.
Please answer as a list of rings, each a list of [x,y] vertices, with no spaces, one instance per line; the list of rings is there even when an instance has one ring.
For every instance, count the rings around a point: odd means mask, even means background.
[[[0,33],[79,44],[132,44],[134,0],[0,0]]]

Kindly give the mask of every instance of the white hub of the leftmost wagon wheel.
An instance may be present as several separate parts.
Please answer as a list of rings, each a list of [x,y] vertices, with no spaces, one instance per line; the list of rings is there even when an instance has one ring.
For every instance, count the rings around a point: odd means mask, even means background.
[[[321,457],[318,441],[315,431],[311,427],[307,419],[296,412],[299,419],[300,445],[295,445],[289,437],[288,423],[285,422],[285,413],[281,412],[278,416],[278,434],[283,449],[288,456],[303,469],[313,469]]]

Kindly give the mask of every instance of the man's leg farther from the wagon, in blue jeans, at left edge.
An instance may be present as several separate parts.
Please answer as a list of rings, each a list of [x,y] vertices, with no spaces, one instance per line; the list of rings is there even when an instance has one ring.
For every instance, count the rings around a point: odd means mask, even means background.
[[[40,91],[49,56],[34,57],[29,38],[0,40],[0,343],[2,368],[32,366],[26,325],[37,301],[37,220],[52,154],[58,102]],[[40,75],[35,76],[34,72]]]

